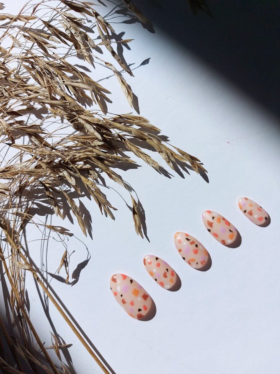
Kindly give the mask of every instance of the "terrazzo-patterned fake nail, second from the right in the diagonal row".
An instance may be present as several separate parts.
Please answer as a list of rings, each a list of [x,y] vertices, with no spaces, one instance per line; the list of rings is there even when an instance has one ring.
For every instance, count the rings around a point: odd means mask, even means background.
[[[224,245],[230,245],[237,237],[237,230],[233,224],[218,213],[204,211],[202,221],[208,232]]]

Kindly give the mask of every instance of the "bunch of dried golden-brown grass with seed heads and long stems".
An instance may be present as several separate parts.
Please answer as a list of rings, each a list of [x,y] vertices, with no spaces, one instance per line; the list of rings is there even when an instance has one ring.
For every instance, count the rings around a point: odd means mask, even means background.
[[[56,6],[53,6],[54,2]],[[127,12],[149,24],[150,21],[130,1],[123,0],[123,3]],[[60,350],[68,346],[61,344],[54,332],[52,346],[46,347],[29,318],[25,273],[31,272],[37,285],[103,372],[109,373],[28,255],[27,224],[34,224],[39,230],[46,227],[60,236],[71,235],[63,227],[41,222],[32,214],[32,204],[43,194],[61,218],[62,202],[67,204],[86,234],[80,208],[70,193],[75,191],[79,196],[87,191],[100,212],[114,218],[112,211],[116,208],[99,188],[103,184],[103,173],[130,193],[135,230],[143,237],[139,205],[128,184],[112,166],[120,162],[133,163],[130,158],[133,153],[159,173],[163,172],[162,166],[143,151],[144,146],[149,145],[172,169],[178,163],[188,162],[197,173],[206,170],[199,159],[164,142],[159,136],[160,130],[144,117],[108,115],[106,102],[110,102],[110,92],[69,62],[71,56],[79,56],[88,64],[100,63],[111,70],[133,107],[133,92],[122,73],[98,55],[100,48],[106,48],[120,70],[132,76],[130,67],[114,49],[114,43],[126,44],[130,40],[114,41],[112,26],[91,3],[42,0],[34,5],[29,2],[18,15],[0,14],[0,21],[4,21],[0,37],[0,144],[3,156],[0,165],[0,274],[1,282],[9,285],[8,305],[14,324],[14,336],[10,337],[0,317],[0,372],[71,372],[60,354]],[[93,29],[99,35],[94,40],[89,36]],[[43,114],[36,117],[36,111]],[[135,140],[144,146],[136,145]],[[5,156],[8,152],[12,152],[9,160]],[[68,282],[67,250],[59,270],[63,266]],[[40,354],[31,343],[34,340]],[[55,351],[60,365],[53,362],[47,348]]]

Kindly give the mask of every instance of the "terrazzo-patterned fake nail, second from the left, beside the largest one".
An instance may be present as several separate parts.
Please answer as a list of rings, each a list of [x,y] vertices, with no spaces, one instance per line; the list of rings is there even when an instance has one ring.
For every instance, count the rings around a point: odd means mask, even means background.
[[[167,262],[152,255],[145,256],[143,262],[147,272],[162,288],[171,289],[175,285],[177,275]]]

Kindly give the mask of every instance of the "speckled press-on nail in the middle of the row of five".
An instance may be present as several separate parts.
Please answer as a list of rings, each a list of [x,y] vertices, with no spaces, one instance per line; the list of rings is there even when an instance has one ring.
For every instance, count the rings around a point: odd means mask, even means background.
[[[208,252],[193,236],[178,232],[174,235],[174,243],[180,256],[194,269],[201,269],[208,261]]]

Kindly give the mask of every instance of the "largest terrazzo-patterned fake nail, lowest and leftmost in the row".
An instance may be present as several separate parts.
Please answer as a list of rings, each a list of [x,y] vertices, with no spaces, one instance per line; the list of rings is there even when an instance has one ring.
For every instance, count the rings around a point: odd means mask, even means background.
[[[152,306],[150,295],[138,282],[125,274],[114,274],[110,279],[112,294],[132,318],[141,319]]]

